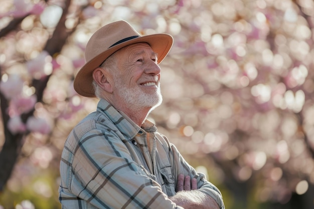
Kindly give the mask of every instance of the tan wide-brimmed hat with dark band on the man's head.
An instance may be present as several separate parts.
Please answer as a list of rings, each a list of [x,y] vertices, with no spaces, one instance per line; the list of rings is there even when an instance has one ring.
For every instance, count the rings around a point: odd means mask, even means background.
[[[86,64],[78,71],[74,79],[74,89],[85,97],[95,97],[92,85],[92,72],[110,55],[130,44],[145,42],[158,54],[161,63],[170,51],[173,37],[169,34],[141,36],[125,21],[117,21],[97,30],[86,45]]]

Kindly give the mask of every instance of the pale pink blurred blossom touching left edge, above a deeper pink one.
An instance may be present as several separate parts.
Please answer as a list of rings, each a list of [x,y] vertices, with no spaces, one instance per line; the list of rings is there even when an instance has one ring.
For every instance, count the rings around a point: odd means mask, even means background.
[[[6,82],[0,83],[0,91],[7,99],[11,99],[22,93],[24,81],[17,74],[9,75]]]

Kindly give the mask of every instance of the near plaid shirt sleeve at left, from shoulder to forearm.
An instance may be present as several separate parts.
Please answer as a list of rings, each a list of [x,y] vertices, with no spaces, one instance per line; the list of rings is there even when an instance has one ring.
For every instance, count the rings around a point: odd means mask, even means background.
[[[97,208],[178,208],[132,160],[124,143],[113,133],[93,129],[82,137],[71,135],[67,189]],[[71,140],[68,140],[71,143]],[[65,160],[63,160],[65,161]]]

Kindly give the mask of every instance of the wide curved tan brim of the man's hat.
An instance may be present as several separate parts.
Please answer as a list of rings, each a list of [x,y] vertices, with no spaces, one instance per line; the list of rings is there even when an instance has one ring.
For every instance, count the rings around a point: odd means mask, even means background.
[[[158,63],[161,63],[169,53],[173,45],[173,37],[169,34],[153,34],[131,39],[117,44],[95,58],[87,62],[77,73],[74,79],[75,91],[85,97],[95,97],[94,87],[92,85],[92,72],[101,65],[110,55],[119,49],[136,43],[147,43],[152,51],[158,55]]]

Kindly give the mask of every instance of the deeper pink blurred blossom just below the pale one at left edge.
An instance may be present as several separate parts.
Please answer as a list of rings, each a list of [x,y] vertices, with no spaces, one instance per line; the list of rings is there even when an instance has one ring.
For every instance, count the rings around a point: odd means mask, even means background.
[[[14,108],[18,114],[27,113],[32,110],[37,102],[36,95],[30,97],[18,96],[11,101],[12,108]]]

